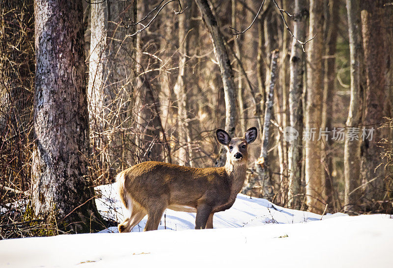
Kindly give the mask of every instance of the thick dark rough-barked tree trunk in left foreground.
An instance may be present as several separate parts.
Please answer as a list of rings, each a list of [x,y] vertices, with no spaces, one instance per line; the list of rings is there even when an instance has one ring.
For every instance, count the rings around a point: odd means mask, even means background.
[[[32,207],[74,231],[98,229],[87,177],[89,128],[81,0],[35,0]]]

